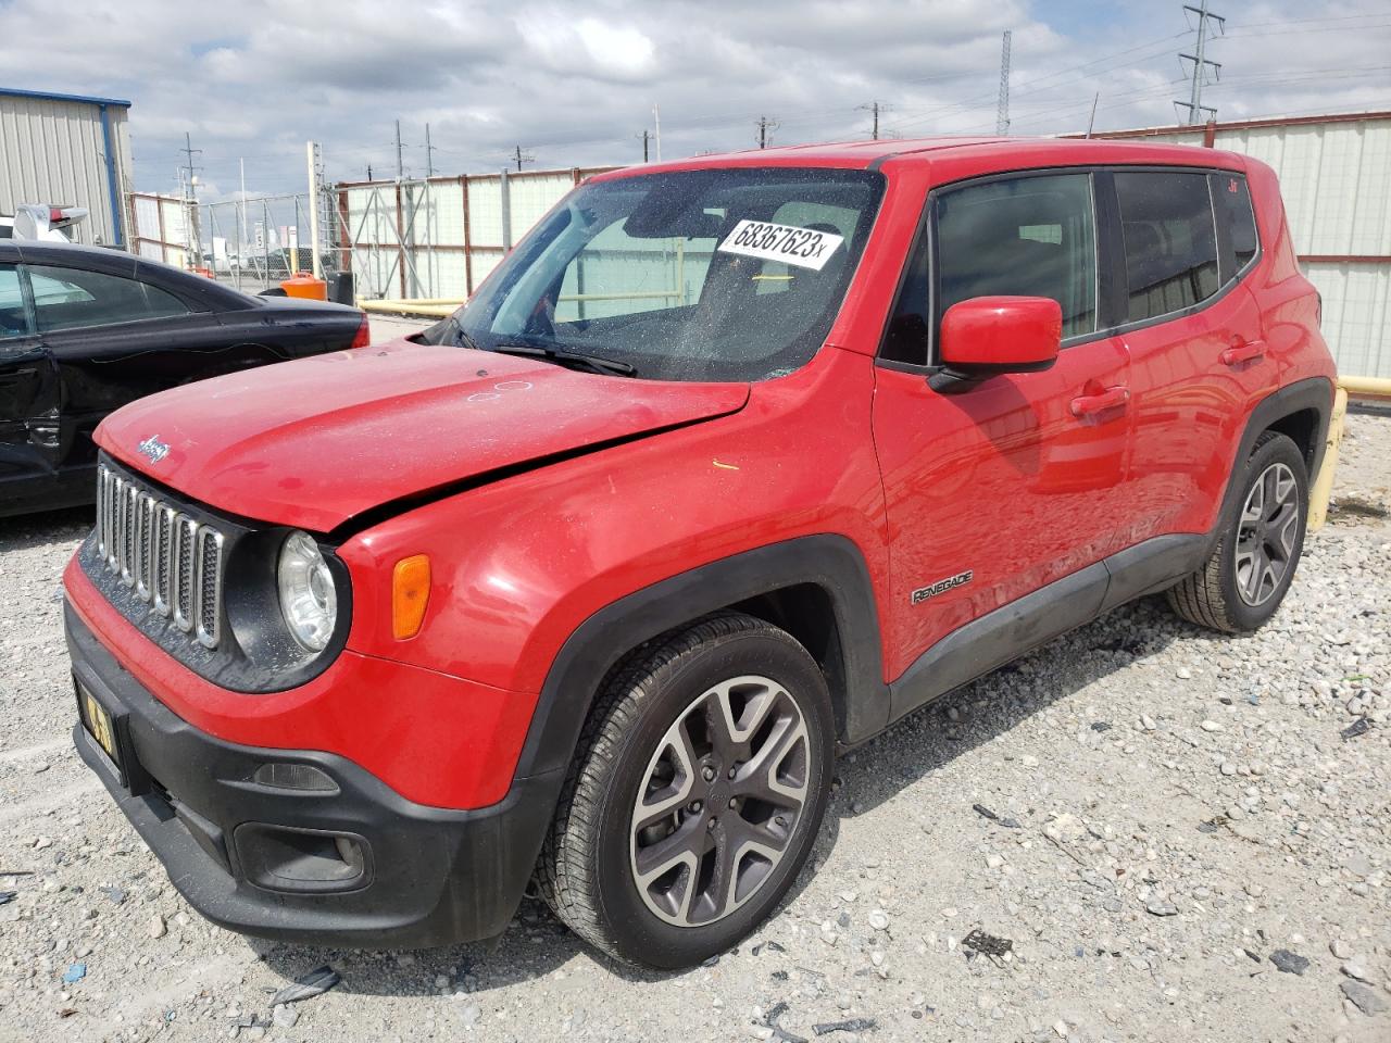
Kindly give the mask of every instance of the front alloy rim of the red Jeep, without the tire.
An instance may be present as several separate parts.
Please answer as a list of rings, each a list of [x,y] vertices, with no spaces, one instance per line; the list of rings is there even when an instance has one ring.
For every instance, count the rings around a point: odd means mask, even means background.
[[[694,698],[633,804],[630,858],[647,908],[700,928],[753,898],[789,850],[810,758],[801,708],[778,681],[733,677]]]

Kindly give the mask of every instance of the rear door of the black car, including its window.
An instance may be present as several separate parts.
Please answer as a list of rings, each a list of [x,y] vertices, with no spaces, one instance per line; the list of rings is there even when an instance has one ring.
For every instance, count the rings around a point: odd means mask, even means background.
[[[25,270],[61,388],[64,466],[95,462],[92,432],[107,413],[228,362],[217,316],[135,278],[134,257],[129,275],[57,264]]]

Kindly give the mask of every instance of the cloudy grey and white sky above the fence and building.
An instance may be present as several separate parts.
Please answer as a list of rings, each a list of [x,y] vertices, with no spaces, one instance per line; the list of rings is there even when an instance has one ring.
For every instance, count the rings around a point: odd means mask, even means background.
[[[1198,6],[1200,0],[1193,0]],[[1220,120],[1391,108],[1391,1],[1212,0]],[[0,86],[128,99],[135,188],[199,196],[332,181],[630,164],[881,134],[993,134],[1010,29],[1010,134],[1153,127],[1188,100],[1178,0],[0,0]],[[1209,79],[1214,74],[1209,72]],[[426,125],[430,143],[426,150]],[[655,159],[655,140],[650,143]]]

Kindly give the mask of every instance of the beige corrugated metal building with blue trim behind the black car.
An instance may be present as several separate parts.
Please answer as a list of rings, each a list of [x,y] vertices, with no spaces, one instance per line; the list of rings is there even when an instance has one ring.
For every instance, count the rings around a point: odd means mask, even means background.
[[[74,238],[124,246],[129,107],[115,97],[0,88],[0,213],[19,203],[86,207]]]

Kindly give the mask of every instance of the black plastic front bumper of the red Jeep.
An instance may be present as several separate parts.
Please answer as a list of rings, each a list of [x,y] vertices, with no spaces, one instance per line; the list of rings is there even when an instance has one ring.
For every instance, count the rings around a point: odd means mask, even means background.
[[[210,921],[363,948],[452,944],[506,928],[559,773],[515,780],[501,802],[474,811],[415,804],[346,758],[200,731],[150,695],[71,606],[65,627],[75,679],[114,718],[124,776],[81,723],[78,752]],[[255,782],[268,763],[309,765],[334,789]]]

